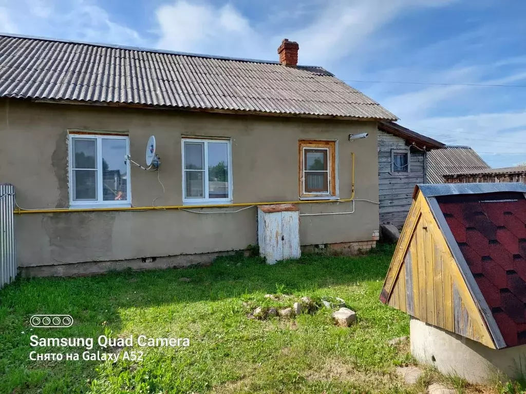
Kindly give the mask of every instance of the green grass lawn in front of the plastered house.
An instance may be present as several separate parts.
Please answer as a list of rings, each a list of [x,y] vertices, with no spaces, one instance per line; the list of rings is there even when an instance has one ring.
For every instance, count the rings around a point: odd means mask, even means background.
[[[409,317],[379,301],[391,252],[308,255],[273,266],[233,256],[200,268],[19,279],[0,291],[0,393],[414,391],[394,372],[411,361],[407,346],[387,345],[409,335]],[[291,320],[248,319],[249,306],[268,305],[267,293],[338,296],[358,321],[336,327],[326,308]],[[75,323],[31,330],[33,314],[69,314]],[[31,335],[104,334],[187,337],[190,345],[135,347],[144,351],[139,362],[28,359],[32,350],[85,350],[35,349]]]

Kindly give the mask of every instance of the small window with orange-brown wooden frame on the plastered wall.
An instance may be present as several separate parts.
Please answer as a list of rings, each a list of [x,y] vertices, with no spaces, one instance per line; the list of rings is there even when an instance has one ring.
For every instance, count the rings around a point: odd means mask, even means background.
[[[299,141],[300,198],[336,196],[336,141]]]

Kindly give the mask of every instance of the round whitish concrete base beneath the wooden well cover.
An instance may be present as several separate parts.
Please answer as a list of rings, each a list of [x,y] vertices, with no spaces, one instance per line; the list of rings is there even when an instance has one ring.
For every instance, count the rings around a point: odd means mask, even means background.
[[[411,318],[411,354],[443,374],[472,383],[488,382],[498,374],[526,374],[526,345],[490,349],[476,341]],[[522,370],[522,371],[521,371]]]

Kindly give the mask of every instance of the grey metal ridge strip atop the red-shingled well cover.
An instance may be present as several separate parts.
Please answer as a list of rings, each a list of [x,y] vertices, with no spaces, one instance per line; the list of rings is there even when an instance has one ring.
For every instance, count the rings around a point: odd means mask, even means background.
[[[526,193],[526,185],[522,183],[426,183],[416,187],[426,197],[452,194]]]

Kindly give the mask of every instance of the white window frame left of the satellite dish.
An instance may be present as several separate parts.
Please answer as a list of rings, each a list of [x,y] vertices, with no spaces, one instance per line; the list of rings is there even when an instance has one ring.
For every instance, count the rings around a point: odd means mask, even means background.
[[[73,200],[73,141],[75,139],[82,140],[95,140],[97,150],[97,200],[96,201],[74,201]],[[69,208],[117,208],[117,207],[130,207],[131,206],[131,165],[129,160],[126,161],[126,200],[116,201],[104,201],[103,195],[103,157],[102,157],[102,140],[103,139],[115,139],[126,141],[126,154],[130,154],[130,141],[129,136],[126,134],[104,134],[96,132],[69,132],[68,133],[68,189],[69,189]],[[123,161],[125,160],[123,156]]]

